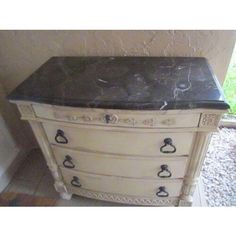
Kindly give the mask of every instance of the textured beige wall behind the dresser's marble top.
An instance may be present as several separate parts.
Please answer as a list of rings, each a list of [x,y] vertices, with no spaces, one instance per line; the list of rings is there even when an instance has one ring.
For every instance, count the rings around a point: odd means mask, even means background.
[[[235,31],[0,31],[0,79],[9,92],[51,56],[204,56],[224,80]]]

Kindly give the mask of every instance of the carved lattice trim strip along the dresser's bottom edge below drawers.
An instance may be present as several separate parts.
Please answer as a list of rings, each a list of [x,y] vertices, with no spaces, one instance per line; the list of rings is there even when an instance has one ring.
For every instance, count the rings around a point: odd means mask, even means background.
[[[177,206],[179,202],[178,198],[167,198],[167,199],[147,198],[147,197],[124,196],[119,194],[89,191],[86,189],[76,189],[74,191],[71,187],[68,187],[68,189],[71,189],[71,193],[83,197],[88,197],[103,201],[125,203],[130,205]]]

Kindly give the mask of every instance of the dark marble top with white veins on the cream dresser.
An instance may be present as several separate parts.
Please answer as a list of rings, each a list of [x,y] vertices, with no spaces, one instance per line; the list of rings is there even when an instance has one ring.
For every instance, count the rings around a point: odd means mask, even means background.
[[[131,110],[229,108],[200,57],[52,57],[8,99]]]

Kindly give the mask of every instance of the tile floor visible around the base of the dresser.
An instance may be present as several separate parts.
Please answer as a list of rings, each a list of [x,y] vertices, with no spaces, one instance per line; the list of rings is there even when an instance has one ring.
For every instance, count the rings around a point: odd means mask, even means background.
[[[124,206],[111,202],[73,196],[71,200],[59,198],[53,178],[39,149],[32,150],[14,175],[4,192],[27,193],[35,196],[57,198],[58,206]],[[202,184],[197,186],[193,206],[206,206]]]

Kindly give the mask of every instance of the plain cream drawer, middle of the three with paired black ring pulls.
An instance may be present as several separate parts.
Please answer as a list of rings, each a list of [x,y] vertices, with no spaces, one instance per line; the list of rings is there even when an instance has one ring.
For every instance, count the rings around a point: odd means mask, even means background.
[[[183,178],[188,157],[126,157],[75,151],[52,145],[57,164],[66,169],[133,178]]]

